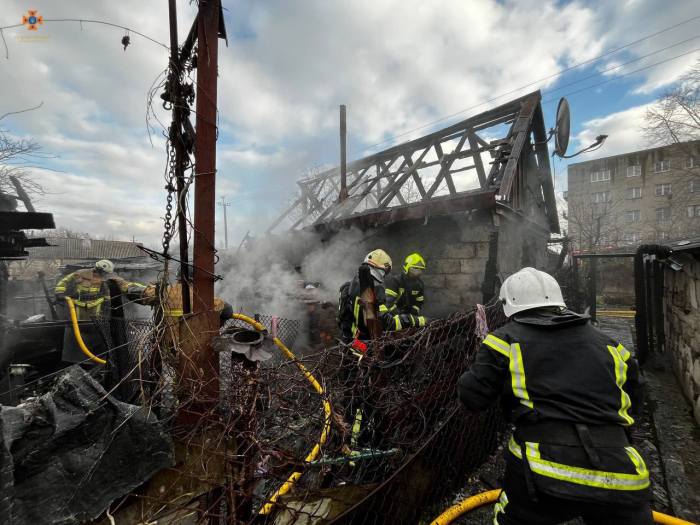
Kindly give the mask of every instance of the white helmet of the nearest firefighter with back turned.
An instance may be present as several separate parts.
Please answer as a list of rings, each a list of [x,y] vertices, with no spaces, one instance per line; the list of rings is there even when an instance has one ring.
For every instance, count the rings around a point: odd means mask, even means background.
[[[534,268],[523,268],[508,277],[498,298],[508,317],[543,306],[566,306],[556,279]]]

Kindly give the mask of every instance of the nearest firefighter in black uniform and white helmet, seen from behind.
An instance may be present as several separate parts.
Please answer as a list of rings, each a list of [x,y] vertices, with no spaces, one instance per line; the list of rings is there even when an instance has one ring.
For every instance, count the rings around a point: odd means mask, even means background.
[[[643,398],[634,357],[566,310],[544,272],[512,275],[500,299],[510,322],[457,386],[473,412],[501,396],[515,423],[494,523],[653,523],[649,471],[628,438]]]

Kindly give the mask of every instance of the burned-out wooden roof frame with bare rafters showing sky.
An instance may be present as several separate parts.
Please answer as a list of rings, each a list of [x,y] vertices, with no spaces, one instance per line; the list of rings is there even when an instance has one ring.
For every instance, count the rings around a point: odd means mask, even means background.
[[[342,202],[339,167],[298,181],[301,196],[266,233],[285,221],[288,231],[368,228],[485,208],[532,222],[533,203],[538,229],[559,233],[541,99],[535,91],[349,163]],[[458,175],[470,170],[471,182]]]

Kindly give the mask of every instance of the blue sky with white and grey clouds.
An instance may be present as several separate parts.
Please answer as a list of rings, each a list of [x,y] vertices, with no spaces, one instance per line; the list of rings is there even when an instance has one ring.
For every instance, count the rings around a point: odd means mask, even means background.
[[[340,104],[347,106],[352,160],[535,89],[543,92],[549,128],[557,101],[567,95],[569,153],[601,133],[610,136],[602,149],[575,159],[583,161],[646,147],[640,130],[646,107],[700,58],[700,18],[691,20],[700,5],[681,0],[223,5],[229,41],[219,41],[217,195],[231,203],[228,237],[234,246],[247,231],[265,232],[310,166],[337,165]],[[53,154],[46,169],[32,169],[47,191],[36,207],[53,213],[59,226],[158,243],[169,113],[157,104],[160,93],[149,119],[147,107],[168,51],[135,33],[124,50],[123,29],[51,20],[110,22],[167,44],[167,2],[3,0],[0,27],[21,23],[29,9],[45,20],[37,31],[25,26],[2,32],[0,115],[42,104],[1,124]],[[180,41],[195,11],[194,2],[178,0]],[[626,76],[615,79],[620,75]],[[554,160],[553,168],[562,191],[566,162]],[[224,237],[222,209],[217,206],[217,244]]]

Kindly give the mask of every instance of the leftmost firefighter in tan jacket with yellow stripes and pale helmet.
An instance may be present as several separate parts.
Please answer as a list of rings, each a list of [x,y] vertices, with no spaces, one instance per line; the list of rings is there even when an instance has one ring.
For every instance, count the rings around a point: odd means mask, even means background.
[[[94,268],[66,275],[56,285],[56,302],[63,304],[66,297],[70,297],[75,305],[75,314],[81,321],[107,313],[110,306],[107,275],[111,273],[114,273],[114,264],[103,259],[97,261]]]

